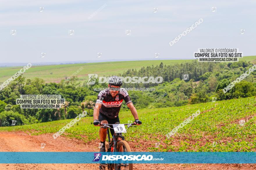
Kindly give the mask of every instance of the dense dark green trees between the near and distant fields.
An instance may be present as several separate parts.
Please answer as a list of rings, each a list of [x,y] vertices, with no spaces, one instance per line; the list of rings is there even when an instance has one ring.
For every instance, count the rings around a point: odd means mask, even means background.
[[[129,96],[137,109],[182,106],[186,104],[204,103],[231,98],[250,97],[256,95],[256,73],[252,72],[243,81],[237,83],[227,93],[222,89],[227,87],[241,74],[246,72],[252,63],[198,63],[197,61],[176,65],[152,65],[139,70],[129,69],[119,76],[162,76],[161,84],[154,83],[123,83],[123,87],[155,87],[156,91],[129,91]],[[189,75],[184,79],[184,75]],[[109,75],[112,76],[112,75]],[[107,84],[80,84],[78,78],[72,78],[66,83],[45,83],[40,78],[25,79],[19,76],[0,91],[0,126],[48,122],[54,120],[75,118],[84,110],[87,116],[93,116],[97,94],[93,88],[107,87]],[[21,109],[16,105],[16,98],[21,94],[58,94],[66,102],[60,109]],[[157,100],[160,96],[160,100]],[[154,104],[152,104],[154,103]],[[123,103],[121,110],[128,110]]]

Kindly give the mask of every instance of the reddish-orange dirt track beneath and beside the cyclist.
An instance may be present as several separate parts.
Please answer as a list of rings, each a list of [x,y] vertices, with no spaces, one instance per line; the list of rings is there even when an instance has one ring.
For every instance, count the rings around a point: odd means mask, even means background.
[[[41,149],[41,143],[45,143],[45,148]],[[31,136],[24,132],[0,132],[0,151],[1,152],[61,152],[61,151],[84,151],[84,152],[94,152],[98,151],[97,141],[91,142],[89,144],[84,144],[83,142],[76,139],[68,139],[63,136],[53,139],[51,134],[43,134],[38,136]],[[134,151],[139,151],[138,149],[132,148]],[[1,159],[1,158],[0,158]],[[48,170],[48,169],[69,169],[69,170],[96,170],[98,169],[98,164],[0,164],[0,169],[38,169],[38,170]],[[134,164],[135,170],[165,170],[165,169],[256,169],[255,164]]]

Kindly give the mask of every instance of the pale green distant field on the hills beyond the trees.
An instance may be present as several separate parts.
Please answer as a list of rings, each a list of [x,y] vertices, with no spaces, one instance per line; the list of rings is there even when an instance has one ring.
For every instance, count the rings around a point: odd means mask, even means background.
[[[240,61],[256,61],[256,56],[246,56]],[[58,83],[65,77],[71,76],[80,67],[83,70],[77,74],[79,81],[88,81],[88,74],[98,74],[98,76],[112,76],[118,73],[123,73],[128,69],[140,69],[151,65],[159,65],[161,62],[166,65],[180,64],[191,62],[193,60],[152,60],[152,61],[118,61],[104,63],[82,63],[82,64],[63,64],[63,65],[44,65],[32,66],[26,70],[24,76],[33,79],[35,77],[42,78],[46,83]],[[33,63],[32,63],[33,65]],[[0,82],[6,81],[13,76],[22,67],[0,67]]]

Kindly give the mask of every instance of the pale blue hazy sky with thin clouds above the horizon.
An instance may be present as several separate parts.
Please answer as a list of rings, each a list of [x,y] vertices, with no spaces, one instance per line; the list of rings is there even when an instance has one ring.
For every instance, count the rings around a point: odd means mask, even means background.
[[[194,59],[198,48],[239,48],[244,56],[255,55],[256,1],[0,3],[0,63],[153,60],[155,53],[158,59]],[[44,7],[42,12],[40,7]],[[200,25],[169,45],[200,18]],[[11,30],[16,33],[11,35]],[[70,30],[74,35],[69,35]],[[131,30],[130,35],[126,30]]]

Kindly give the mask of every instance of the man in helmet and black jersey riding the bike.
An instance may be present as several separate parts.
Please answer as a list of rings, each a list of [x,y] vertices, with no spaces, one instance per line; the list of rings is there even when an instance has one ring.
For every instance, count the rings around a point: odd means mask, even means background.
[[[115,124],[119,123],[118,113],[120,111],[122,101],[125,100],[126,105],[131,110],[135,121],[134,124],[141,125],[141,121],[138,118],[138,113],[132,104],[131,98],[127,91],[120,88],[122,85],[122,79],[118,76],[112,76],[109,78],[108,89],[102,90],[98,94],[98,98],[95,103],[93,111],[93,125],[100,126],[104,123]],[[111,135],[113,136],[114,130],[110,129]],[[105,141],[107,136],[107,129],[99,129],[99,139],[102,143],[101,152],[105,152]]]

